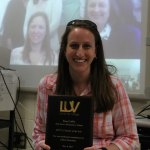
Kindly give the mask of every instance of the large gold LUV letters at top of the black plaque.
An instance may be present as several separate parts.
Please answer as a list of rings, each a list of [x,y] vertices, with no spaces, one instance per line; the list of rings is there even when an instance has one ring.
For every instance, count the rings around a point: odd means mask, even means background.
[[[63,109],[63,101],[60,101],[60,112],[73,112],[75,113],[77,111],[77,108],[79,107],[80,102],[77,103],[76,107],[74,107],[74,101],[70,101],[71,109],[67,110],[67,102],[64,101],[64,109]]]

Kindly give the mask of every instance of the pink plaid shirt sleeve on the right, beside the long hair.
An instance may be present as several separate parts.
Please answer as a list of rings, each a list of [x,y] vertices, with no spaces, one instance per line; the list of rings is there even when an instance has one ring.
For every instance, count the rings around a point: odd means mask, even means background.
[[[135,114],[119,79],[117,79],[116,88],[118,90],[118,102],[112,110],[116,138],[112,143],[116,144],[120,150],[135,150],[139,148]]]

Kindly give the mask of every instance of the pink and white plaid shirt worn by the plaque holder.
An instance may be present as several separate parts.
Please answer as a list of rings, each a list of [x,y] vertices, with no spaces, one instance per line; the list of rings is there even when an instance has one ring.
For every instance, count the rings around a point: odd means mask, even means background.
[[[47,75],[41,79],[37,96],[37,115],[33,130],[33,144],[35,150],[45,143],[48,95],[55,94],[57,75]],[[135,115],[130,100],[120,80],[111,76],[111,80],[118,91],[118,102],[111,111],[94,114],[93,145],[97,148],[110,143],[116,144],[120,150],[136,150],[139,139],[135,122]],[[80,96],[89,95],[88,86]]]

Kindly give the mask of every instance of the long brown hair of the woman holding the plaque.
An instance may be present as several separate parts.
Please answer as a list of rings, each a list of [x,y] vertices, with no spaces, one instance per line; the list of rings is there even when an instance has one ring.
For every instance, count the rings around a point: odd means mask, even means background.
[[[62,42],[59,53],[56,94],[58,95],[73,95],[73,82],[70,77],[69,64],[65,58],[65,51],[68,42],[68,35],[74,28],[84,28],[93,33],[95,37],[96,60],[93,60],[90,71],[91,93],[96,102],[96,112],[106,112],[113,109],[114,104],[118,100],[118,93],[113,85],[110,75],[110,69],[116,71],[116,68],[107,65],[104,58],[103,45],[99,33],[86,23],[76,22],[66,28],[62,36]]]

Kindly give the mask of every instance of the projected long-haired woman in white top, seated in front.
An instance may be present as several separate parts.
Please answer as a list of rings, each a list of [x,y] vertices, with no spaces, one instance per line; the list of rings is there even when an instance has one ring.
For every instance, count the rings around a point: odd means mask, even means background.
[[[49,23],[45,13],[35,13],[29,20],[23,47],[11,52],[11,65],[57,65],[57,54],[50,48]]]

